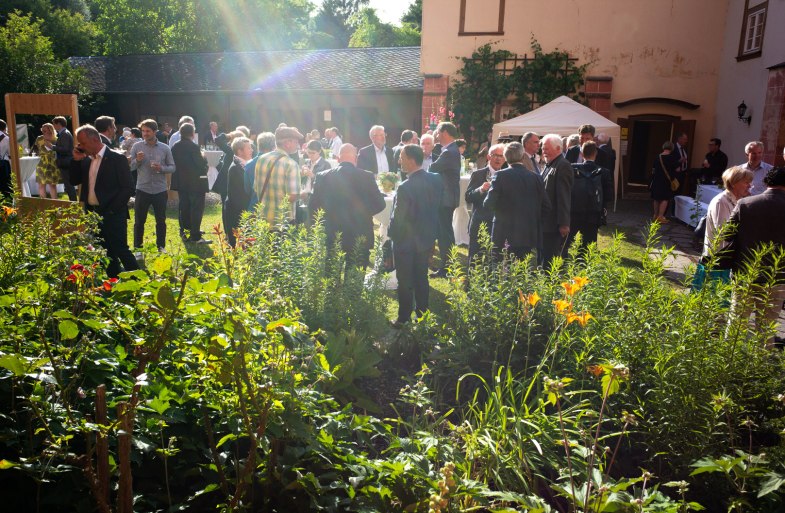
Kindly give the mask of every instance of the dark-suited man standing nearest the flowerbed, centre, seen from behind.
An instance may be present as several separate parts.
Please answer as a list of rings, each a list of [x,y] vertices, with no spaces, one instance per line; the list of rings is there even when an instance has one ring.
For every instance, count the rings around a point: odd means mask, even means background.
[[[438,176],[422,170],[423,151],[409,144],[401,150],[401,169],[408,176],[398,186],[388,234],[393,240],[398,277],[398,318],[401,327],[428,310],[428,259],[438,231],[442,184]]]

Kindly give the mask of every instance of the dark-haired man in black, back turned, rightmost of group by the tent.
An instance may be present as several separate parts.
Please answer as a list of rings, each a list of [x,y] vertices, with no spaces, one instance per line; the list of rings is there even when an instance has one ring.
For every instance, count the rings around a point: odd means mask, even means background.
[[[597,144],[594,141],[587,141],[581,146],[581,154],[585,160],[582,164],[572,165],[574,186],[567,247],[572,245],[578,232],[581,233],[581,247],[585,248],[592,242],[597,242],[597,231],[613,200],[613,176],[609,169],[600,167],[595,162],[594,158],[598,153]],[[597,183],[601,184],[601,187],[593,188]],[[599,197],[596,195],[597,192]]]

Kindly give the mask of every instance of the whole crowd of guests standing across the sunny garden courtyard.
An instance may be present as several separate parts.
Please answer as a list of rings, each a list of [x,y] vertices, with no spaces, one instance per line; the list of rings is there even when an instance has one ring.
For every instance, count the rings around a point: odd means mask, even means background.
[[[404,130],[394,147],[387,144],[385,128],[374,125],[368,132],[370,144],[358,148],[344,143],[337,127],[328,128],[322,137],[318,130],[303,135],[281,123],[274,132],[252,135],[245,126],[221,132],[212,121],[203,143],[223,152],[212,187],[190,116],[181,117],[174,131],[168,123],[159,126],[146,119],[137,127],[125,128],[120,137],[116,137],[114,118],[100,116],[94,125],[77,130],[76,143],[66,125],[65,118],[55,117],[41,127],[34,143],[41,157],[36,173],[39,195],[57,197],[55,187],[63,183],[69,199],[76,200],[75,186],[82,185],[79,199],[102,220],[100,237],[110,258],[110,276],[116,276],[121,265],[126,270],[138,267],[151,207],[156,246],[165,251],[169,190],[178,192],[180,235],[185,242],[211,242],[203,237],[201,222],[205,194],[212,190],[221,196],[229,244],[236,243],[243,212],[254,212],[275,226],[281,220],[307,224],[317,211],[323,211],[330,246],[340,234],[347,265],[364,268],[374,240],[373,216],[385,208],[375,179],[382,173],[400,173],[403,179],[388,229],[398,277],[399,313],[394,324],[400,326],[409,322],[413,313],[421,315],[427,310],[428,272],[437,261],[433,257],[437,246],[439,263],[430,276],[447,275],[466,149],[466,141],[450,122],[439,123],[421,136]],[[0,149],[4,142],[7,145],[2,128]],[[653,219],[660,223],[668,222],[668,205],[687,178],[687,143],[686,134],[680,134],[675,144],[665,142],[653,162]],[[783,218],[785,170],[762,162],[763,144],[757,141],[745,148],[747,162],[728,168],[721,144],[717,138],[710,141],[701,168],[702,182],[721,181],[725,189],[708,207],[704,257],[712,256],[710,248],[727,250],[730,256],[725,261],[738,268],[743,257],[761,242],[785,245],[785,223],[763,231],[754,224],[748,227],[749,219],[758,215]],[[469,276],[482,251],[483,226],[493,243],[493,251],[487,255],[491,261],[504,255],[518,259],[531,255],[532,265],[547,267],[554,258],[566,257],[577,233],[583,246],[595,242],[614,198],[615,161],[608,137],[595,134],[591,125],[581,125],[575,135],[565,138],[529,132],[520,141],[493,144],[489,137],[479,152],[481,167],[473,170],[464,196],[472,209]],[[756,197],[745,199],[748,196]],[[129,248],[125,235],[131,197],[137,254]],[[721,226],[729,220],[738,230],[715,242]],[[785,285],[774,294],[769,316],[776,313],[777,301],[781,305],[785,300]]]

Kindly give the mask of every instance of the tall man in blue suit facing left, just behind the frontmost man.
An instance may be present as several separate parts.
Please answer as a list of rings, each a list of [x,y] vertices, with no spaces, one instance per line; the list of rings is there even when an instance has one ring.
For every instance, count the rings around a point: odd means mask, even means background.
[[[447,264],[450,250],[455,245],[455,232],[452,230],[452,215],[461,199],[461,154],[455,139],[458,138],[458,129],[449,121],[443,121],[436,127],[439,140],[444,144],[439,158],[431,164],[431,173],[436,173],[442,178],[442,199],[439,207],[439,254],[441,267],[434,272],[433,278],[447,277]]]

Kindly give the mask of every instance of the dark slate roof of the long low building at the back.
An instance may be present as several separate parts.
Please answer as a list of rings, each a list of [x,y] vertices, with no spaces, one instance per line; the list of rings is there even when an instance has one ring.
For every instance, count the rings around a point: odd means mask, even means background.
[[[422,90],[420,47],[71,57],[94,93]]]

